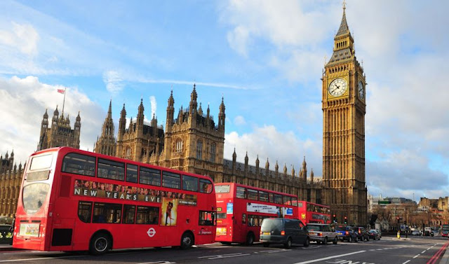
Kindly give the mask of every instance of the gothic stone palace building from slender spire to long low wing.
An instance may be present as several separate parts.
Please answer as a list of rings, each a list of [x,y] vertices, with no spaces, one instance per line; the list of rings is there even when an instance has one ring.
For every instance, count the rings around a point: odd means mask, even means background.
[[[232,160],[226,160],[224,158],[226,119],[224,99],[222,98],[218,107],[218,120],[215,123],[210,114],[210,106],[204,112],[197,98],[196,85],[194,85],[187,109],[181,107],[175,113],[173,91],[170,93],[165,132],[162,127],[157,127],[154,116],[150,125],[143,123],[145,114],[142,101],[136,120],[133,121],[131,118],[128,129],[125,129],[126,110],[123,106],[119,120],[119,136],[116,141],[116,156],[184,172],[206,174],[214,182],[243,183],[248,186],[291,193],[310,202],[325,202],[325,191],[321,181],[314,180],[313,172],[310,174],[309,181],[307,180],[305,157],[298,173],[295,173],[294,167],[288,172],[286,165],[280,172],[277,161],[274,170],[270,169],[268,159],[264,168],[259,166],[259,158],[255,160],[255,166],[249,165],[248,155],[244,163],[236,162],[235,151]],[[102,127],[102,136],[95,144],[95,152],[104,153],[102,146],[106,146],[105,132],[114,133],[110,103],[107,118]],[[107,142],[113,144],[114,140],[109,137]]]

